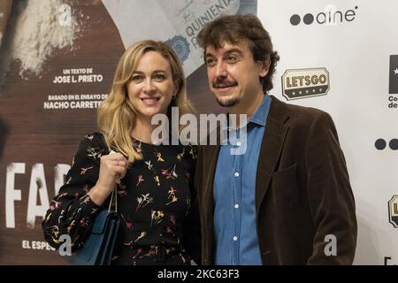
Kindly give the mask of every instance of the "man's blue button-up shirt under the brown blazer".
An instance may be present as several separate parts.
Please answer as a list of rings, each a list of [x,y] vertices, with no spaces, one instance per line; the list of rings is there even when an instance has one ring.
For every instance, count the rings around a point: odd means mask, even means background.
[[[271,97],[264,95],[249,119],[246,139],[238,145],[222,145],[214,178],[214,263],[223,265],[262,264],[256,233],[256,172]],[[246,140],[246,141],[245,141]],[[232,155],[231,149],[246,147]]]

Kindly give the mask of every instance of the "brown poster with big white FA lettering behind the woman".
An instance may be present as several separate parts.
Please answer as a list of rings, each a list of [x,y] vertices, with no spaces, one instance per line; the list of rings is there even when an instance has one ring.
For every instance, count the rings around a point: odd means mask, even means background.
[[[197,112],[221,111],[195,36],[234,13],[256,13],[256,0],[0,2],[0,264],[66,264],[42,218],[130,44],[168,42]]]

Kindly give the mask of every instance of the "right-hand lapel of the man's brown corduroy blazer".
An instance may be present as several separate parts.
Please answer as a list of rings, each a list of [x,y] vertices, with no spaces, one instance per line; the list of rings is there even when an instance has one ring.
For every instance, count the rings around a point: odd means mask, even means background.
[[[272,173],[275,171],[279,161],[283,142],[288,131],[286,124],[289,115],[284,103],[274,96],[270,112],[267,117],[263,142],[261,144],[260,156],[258,157],[256,172],[256,215],[264,199],[264,195],[270,185]]]

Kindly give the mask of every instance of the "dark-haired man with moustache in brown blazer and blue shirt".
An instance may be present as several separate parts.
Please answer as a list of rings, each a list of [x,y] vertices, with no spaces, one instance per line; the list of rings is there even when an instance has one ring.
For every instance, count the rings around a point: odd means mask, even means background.
[[[199,149],[203,264],[352,264],[355,202],[332,118],[268,95],[279,56],[256,16],[209,22],[198,42],[218,103],[249,121],[246,141]]]

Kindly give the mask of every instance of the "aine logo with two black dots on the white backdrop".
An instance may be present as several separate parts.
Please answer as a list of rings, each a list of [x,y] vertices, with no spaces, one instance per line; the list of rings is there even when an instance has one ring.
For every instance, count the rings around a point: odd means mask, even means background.
[[[305,25],[311,25],[315,21],[319,25],[336,26],[337,24],[350,22],[356,19],[357,9],[358,6],[355,6],[354,9],[338,11],[336,6],[330,4],[325,6],[324,11],[316,14],[306,13],[303,17],[294,14],[290,17],[290,23],[292,26],[298,26],[301,22]]]

